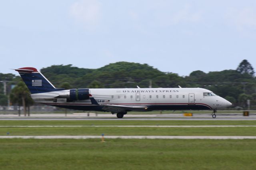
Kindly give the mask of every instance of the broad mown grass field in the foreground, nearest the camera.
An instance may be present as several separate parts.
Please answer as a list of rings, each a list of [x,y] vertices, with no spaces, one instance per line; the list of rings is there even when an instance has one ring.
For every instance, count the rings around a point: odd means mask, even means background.
[[[255,140],[0,139],[1,170],[252,170]]]

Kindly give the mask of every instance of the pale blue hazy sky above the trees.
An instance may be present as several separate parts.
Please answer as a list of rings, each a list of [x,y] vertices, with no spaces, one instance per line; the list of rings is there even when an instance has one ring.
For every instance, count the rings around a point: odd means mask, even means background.
[[[147,63],[189,75],[256,68],[255,0],[3,0],[0,72]]]

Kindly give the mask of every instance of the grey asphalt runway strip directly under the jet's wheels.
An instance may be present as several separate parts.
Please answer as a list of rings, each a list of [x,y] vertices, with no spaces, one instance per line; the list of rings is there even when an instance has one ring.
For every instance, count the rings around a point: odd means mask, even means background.
[[[193,114],[193,116],[184,116],[183,114],[127,114],[122,119],[118,119],[112,114],[95,114],[95,113],[73,113],[73,114],[31,114],[30,117],[17,114],[0,114],[0,120],[256,120],[256,113],[250,113],[250,116],[243,116],[242,113],[216,114],[212,118],[209,113]]]

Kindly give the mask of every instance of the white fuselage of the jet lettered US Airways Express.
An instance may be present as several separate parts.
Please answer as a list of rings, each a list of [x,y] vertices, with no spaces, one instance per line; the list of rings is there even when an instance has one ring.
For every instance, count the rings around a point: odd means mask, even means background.
[[[60,93],[68,92],[61,90],[32,94],[36,101],[52,106],[93,106],[90,99],[67,102],[65,99],[54,99]],[[206,96],[212,93],[203,88],[111,88],[90,89],[90,94],[100,105],[120,106],[148,106],[150,110],[161,109],[221,109],[231,106],[231,103],[220,96]],[[170,106],[170,107],[169,107]],[[173,107],[172,107],[173,106]],[[72,108],[70,107],[70,108]],[[151,108],[151,109],[150,109]],[[84,109],[84,110],[94,110]]]

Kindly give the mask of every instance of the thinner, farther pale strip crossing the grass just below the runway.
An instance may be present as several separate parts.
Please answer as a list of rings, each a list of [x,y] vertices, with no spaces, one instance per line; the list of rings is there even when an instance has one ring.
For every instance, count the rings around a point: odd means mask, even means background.
[[[0,127],[256,127],[256,125],[39,125],[39,126],[0,126]]]

